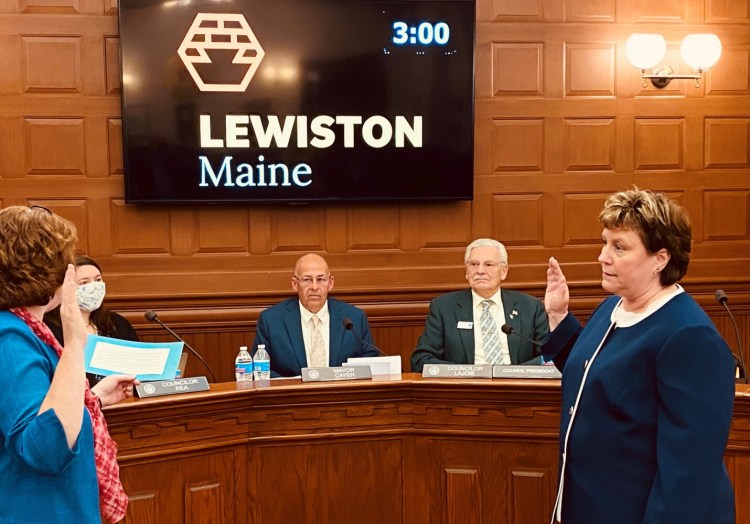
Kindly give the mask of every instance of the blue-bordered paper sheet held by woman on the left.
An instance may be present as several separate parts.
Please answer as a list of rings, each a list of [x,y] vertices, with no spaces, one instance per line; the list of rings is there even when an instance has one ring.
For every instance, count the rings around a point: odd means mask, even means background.
[[[182,342],[132,342],[89,335],[84,348],[86,371],[95,375],[135,375],[138,380],[175,377]]]

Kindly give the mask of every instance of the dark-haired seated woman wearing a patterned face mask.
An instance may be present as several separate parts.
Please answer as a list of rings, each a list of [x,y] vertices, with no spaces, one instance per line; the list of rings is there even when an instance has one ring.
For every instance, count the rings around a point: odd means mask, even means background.
[[[122,315],[107,310],[103,305],[106,286],[102,279],[102,270],[95,260],[79,255],[76,257],[76,282],[78,289],[78,307],[81,310],[86,330],[92,335],[119,338],[122,340],[138,340],[133,326]],[[44,316],[44,322],[49,326],[55,338],[62,343],[63,332],[60,322],[60,309],[56,308]],[[103,377],[87,373],[93,386]]]

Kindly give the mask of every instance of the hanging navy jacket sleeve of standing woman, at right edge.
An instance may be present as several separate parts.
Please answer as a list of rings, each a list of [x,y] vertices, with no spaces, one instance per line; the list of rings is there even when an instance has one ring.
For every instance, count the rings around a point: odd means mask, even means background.
[[[731,487],[716,498],[703,487],[724,475],[735,394],[731,352],[711,327],[689,326],[669,338],[656,365],[657,472],[643,522],[718,522],[714,516],[733,507]]]

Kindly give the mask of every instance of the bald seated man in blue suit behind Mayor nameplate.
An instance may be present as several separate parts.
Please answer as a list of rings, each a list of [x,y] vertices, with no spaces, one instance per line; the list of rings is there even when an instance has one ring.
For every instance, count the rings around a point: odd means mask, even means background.
[[[304,367],[340,366],[349,357],[374,357],[364,311],[329,298],[333,275],[323,257],[304,255],[294,266],[289,298],[260,314],[253,350],[265,344],[271,356],[271,377],[294,377]],[[352,331],[344,328],[352,322]],[[356,335],[356,336],[355,336]],[[364,340],[363,344],[357,337]]]

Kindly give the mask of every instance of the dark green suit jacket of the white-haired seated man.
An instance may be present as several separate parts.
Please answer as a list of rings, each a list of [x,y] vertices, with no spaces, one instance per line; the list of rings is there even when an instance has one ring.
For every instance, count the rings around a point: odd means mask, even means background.
[[[514,333],[544,341],[549,322],[539,299],[506,289],[500,290],[500,299],[505,322]],[[421,373],[425,364],[474,363],[474,329],[458,329],[459,322],[474,322],[471,289],[447,293],[430,302],[424,331],[411,356],[413,372]],[[519,336],[508,335],[508,350],[511,364],[540,363],[539,348]]]

